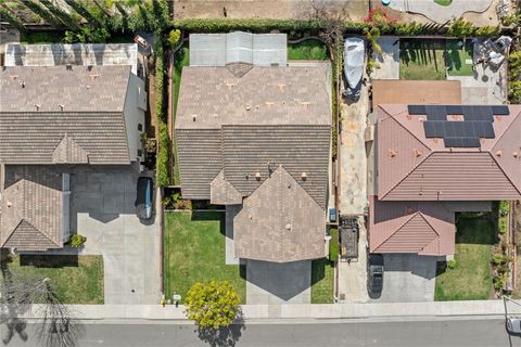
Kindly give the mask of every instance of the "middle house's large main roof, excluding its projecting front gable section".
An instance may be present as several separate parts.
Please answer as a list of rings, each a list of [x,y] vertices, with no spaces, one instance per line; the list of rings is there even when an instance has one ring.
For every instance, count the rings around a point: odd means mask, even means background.
[[[176,141],[186,198],[211,198],[225,178],[249,195],[279,164],[325,208],[331,127],[330,66],[183,69]],[[256,174],[260,180],[252,179]],[[308,180],[302,181],[302,174]]]

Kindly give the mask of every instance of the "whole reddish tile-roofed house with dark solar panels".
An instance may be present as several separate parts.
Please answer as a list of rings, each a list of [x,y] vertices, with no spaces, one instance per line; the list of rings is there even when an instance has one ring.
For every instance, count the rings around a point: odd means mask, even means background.
[[[455,211],[521,198],[521,105],[379,105],[373,253],[444,256]]]

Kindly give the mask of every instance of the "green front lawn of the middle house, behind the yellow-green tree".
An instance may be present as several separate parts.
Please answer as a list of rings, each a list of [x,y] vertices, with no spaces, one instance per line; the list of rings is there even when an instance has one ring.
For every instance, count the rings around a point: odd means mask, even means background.
[[[195,282],[228,281],[245,303],[244,267],[225,262],[225,214],[165,213],[165,294],[185,299]],[[182,300],[181,300],[182,301]]]

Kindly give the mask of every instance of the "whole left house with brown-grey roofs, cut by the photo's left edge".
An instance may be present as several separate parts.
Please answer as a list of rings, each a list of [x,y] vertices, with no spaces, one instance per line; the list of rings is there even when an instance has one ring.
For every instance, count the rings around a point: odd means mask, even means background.
[[[71,165],[141,160],[147,93],[131,66],[0,69],[0,247],[61,248]]]

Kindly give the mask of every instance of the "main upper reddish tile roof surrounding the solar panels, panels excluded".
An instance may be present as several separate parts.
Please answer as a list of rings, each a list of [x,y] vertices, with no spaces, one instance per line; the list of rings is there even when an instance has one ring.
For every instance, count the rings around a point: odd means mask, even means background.
[[[410,116],[406,105],[380,105],[376,141],[379,198],[519,198],[521,106],[510,105],[509,110],[509,116],[494,116],[494,139],[481,139],[481,147],[463,149],[428,139],[422,124],[425,117]]]

